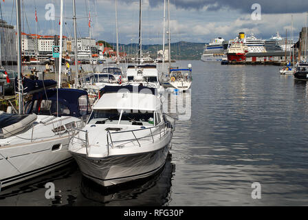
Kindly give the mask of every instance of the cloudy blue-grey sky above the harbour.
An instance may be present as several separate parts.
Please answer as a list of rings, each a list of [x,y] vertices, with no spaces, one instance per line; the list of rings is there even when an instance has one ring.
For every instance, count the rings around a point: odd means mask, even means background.
[[[15,0],[0,1],[2,19],[16,26]],[[60,33],[60,0],[21,0],[21,3],[23,32]],[[54,18],[50,16],[50,5],[54,5]],[[35,21],[35,11],[38,22]],[[293,30],[294,41],[297,41],[301,28],[306,25],[307,11],[307,0],[170,0],[171,42],[206,43],[219,36],[230,40],[239,32],[269,39],[276,32],[285,36],[286,30],[288,36]],[[74,36],[72,0],[64,0],[63,16],[63,34]],[[116,42],[115,0],[76,0],[76,17],[78,37],[91,35],[96,40]],[[164,0],[142,0],[144,44],[162,44],[163,17]],[[138,26],[139,0],[118,0],[119,42],[137,43]]]

